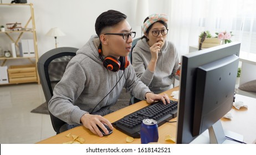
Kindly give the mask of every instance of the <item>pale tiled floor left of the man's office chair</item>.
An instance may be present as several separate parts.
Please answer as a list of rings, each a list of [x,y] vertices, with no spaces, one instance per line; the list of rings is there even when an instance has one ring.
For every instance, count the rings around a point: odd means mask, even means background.
[[[0,86],[0,143],[36,143],[54,136],[50,116],[30,112],[44,101],[36,83]]]

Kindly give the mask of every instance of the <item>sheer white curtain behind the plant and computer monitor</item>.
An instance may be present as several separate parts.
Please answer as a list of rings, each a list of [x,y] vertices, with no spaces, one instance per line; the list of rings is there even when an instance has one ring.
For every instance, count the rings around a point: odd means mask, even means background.
[[[189,46],[198,45],[198,36],[209,30],[232,32],[232,42],[241,42],[241,50],[256,53],[256,1],[254,0],[165,0],[168,40],[180,55]]]

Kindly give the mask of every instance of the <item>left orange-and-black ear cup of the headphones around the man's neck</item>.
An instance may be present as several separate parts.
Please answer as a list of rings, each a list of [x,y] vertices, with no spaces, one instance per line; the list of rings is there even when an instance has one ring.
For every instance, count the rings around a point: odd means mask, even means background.
[[[110,71],[118,71],[120,69],[120,61],[116,60],[114,56],[106,56],[103,65]]]

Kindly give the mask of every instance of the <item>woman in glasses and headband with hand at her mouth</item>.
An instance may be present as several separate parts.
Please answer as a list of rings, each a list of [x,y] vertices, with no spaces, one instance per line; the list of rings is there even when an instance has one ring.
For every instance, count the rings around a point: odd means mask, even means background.
[[[179,66],[178,53],[173,43],[167,41],[166,14],[152,14],[144,20],[144,36],[132,50],[132,66],[137,77],[155,94],[173,87]]]

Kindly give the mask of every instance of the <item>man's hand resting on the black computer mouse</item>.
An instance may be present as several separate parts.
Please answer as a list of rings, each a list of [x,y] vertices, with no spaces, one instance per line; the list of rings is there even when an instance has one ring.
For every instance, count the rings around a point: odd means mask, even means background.
[[[105,123],[111,130],[113,130],[113,126],[107,120],[106,118],[100,116],[100,115],[91,115],[89,113],[85,113],[81,117],[81,122],[83,123],[84,127],[88,128],[91,132],[93,132],[95,135],[99,135],[100,137],[103,137],[103,134],[100,132],[97,125],[107,134],[109,131],[107,131],[106,127],[103,125]]]

